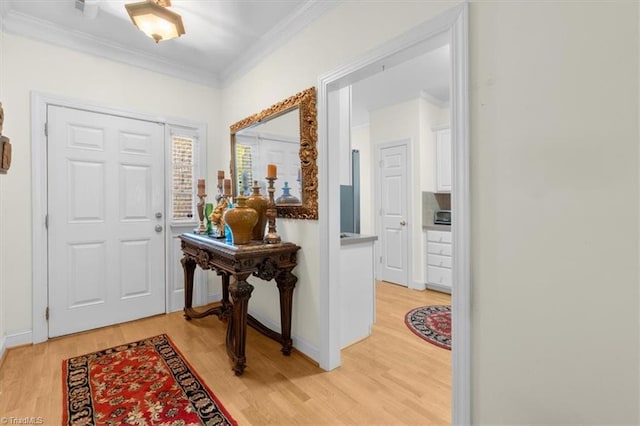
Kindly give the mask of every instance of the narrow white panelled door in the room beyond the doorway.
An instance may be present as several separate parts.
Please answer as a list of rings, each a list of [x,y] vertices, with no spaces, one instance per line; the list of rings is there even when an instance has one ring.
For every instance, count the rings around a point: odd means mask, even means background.
[[[408,286],[407,146],[379,148],[380,279]]]

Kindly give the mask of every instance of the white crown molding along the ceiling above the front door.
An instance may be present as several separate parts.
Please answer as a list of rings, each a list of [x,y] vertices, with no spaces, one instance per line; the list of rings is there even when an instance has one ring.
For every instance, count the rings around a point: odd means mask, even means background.
[[[158,55],[150,55],[138,50],[128,49],[103,38],[69,30],[60,25],[25,15],[12,10],[10,2],[0,1],[0,16],[2,17],[0,29],[9,34],[44,41],[182,80],[218,87],[217,76],[209,71],[187,67],[181,62],[170,61]]]

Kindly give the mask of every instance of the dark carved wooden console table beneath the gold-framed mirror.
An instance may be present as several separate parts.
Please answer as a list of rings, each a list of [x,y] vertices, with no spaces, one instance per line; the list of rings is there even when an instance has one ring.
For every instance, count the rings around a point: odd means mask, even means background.
[[[246,366],[245,344],[247,324],[282,344],[281,352],[291,354],[291,308],[293,289],[298,278],[295,268],[300,247],[293,243],[265,244],[252,241],[244,245],[226,244],[206,235],[185,233],[182,240],[181,263],[184,269],[184,316],[187,320],[217,315],[228,320],[226,346],[236,375]],[[216,271],[222,277],[222,300],[205,311],[193,309],[193,273],[196,265]],[[280,293],[281,333],[271,330],[248,314],[247,308],[253,286],[247,282],[251,275],[266,281],[275,279]],[[233,280],[230,280],[233,277]],[[229,298],[231,296],[231,298]]]

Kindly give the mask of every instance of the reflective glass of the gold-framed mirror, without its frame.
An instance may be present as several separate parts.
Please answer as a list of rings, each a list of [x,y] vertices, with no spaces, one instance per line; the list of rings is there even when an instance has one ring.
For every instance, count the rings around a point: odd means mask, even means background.
[[[266,194],[267,164],[275,164],[275,202],[302,204],[302,170],[300,167],[300,110],[293,108],[270,120],[236,132],[236,193],[249,196],[254,181]]]

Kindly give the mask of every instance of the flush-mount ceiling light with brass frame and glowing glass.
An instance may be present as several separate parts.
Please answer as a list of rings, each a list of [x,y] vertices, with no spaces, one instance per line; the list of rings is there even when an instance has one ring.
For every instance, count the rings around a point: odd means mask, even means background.
[[[171,0],[145,0],[125,4],[133,25],[158,43],[184,34],[182,17],[167,9]]]

